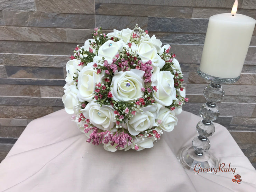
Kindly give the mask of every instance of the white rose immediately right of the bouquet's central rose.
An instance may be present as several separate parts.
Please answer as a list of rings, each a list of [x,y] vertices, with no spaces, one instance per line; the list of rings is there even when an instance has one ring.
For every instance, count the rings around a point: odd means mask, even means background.
[[[174,88],[174,75],[170,71],[155,70],[152,75],[152,86],[158,89],[154,92],[155,101],[164,106],[170,106],[176,98],[176,90]]]

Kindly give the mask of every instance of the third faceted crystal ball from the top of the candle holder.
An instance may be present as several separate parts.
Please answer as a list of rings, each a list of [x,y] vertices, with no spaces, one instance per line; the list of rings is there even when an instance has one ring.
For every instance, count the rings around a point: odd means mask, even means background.
[[[203,119],[196,125],[196,131],[202,137],[210,137],[213,135],[215,127],[211,121],[205,121]]]

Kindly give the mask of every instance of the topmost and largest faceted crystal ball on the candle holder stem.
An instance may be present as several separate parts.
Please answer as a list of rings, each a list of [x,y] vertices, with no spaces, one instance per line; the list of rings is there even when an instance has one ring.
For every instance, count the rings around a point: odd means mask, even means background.
[[[203,94],[207,101],[216,103],[224,97],[224,90],[220,84],[211,83],[204,88]]]

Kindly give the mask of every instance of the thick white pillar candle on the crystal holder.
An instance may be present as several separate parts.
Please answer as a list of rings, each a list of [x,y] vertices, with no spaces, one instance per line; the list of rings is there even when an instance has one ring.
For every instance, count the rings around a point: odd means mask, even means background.
[[[200,70],[221,78],[240,76],[256,20],[222,13],[209,18]]]

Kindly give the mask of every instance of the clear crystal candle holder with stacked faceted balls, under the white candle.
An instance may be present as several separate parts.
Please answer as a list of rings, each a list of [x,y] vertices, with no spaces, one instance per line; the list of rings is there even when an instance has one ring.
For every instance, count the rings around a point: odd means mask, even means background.
[[[203,73],[200,69],[197,72],[203,79],[210,82],[203,91],[207,102],[201,106],[199,111],[203,120],[199,121],[196,125],[196,131],[199,135],[192,140],[192,146],[182,148],[177,156],[184,168],[193,171],[198,163],[200,163],[200,167],[202,168],[214,168],[219,164],[218,159],[209,152],[210,140],[208,137],[212,136],[215,131],[212,121],[216,120],[220,115],[219,108],[216,104],[224,97],[224,90],[220,83],[231,84],[240,78],[240,76],[228,79],[214,77]],[[198,168],[196,167],[196,169]]]

